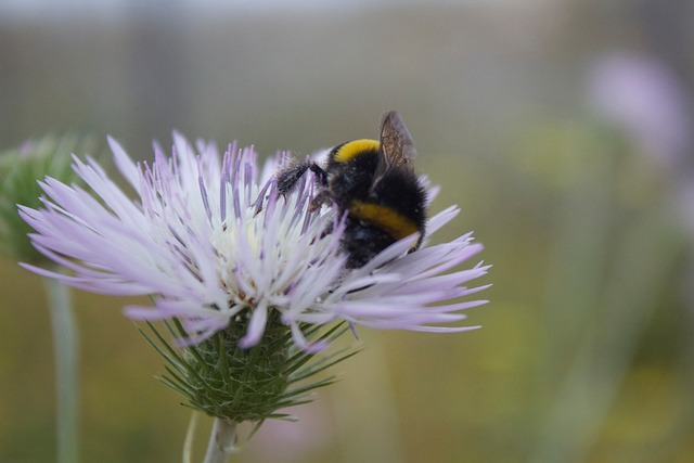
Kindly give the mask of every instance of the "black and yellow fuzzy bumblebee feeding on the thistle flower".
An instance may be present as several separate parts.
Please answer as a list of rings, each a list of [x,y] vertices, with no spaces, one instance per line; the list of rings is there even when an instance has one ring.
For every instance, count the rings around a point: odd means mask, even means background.
[[[294,162],[277,173],[278,191],[291,193],[311,170],[319,187],[311,207],[322,204],[347,213],[340,245],[347,267],[364,266],[376,254],[415,232],[422,244],[427,194],[414,173],[414,141],[400,114],[381,119],[380,140],[354,140],[333,147],[324,166],[310,159]]]

